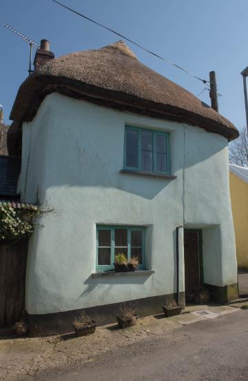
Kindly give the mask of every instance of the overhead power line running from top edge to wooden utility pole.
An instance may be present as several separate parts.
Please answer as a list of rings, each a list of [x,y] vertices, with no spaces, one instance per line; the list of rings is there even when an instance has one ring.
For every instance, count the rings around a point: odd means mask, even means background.
[[[157,55],[156,53],[152,52],[152,50],[149,50],[147,48],[145,48],[144,46],[141,46],[139,43],[136,43],[135,41],[121,35],[121,33],[118,33],[116,32],[115,30],[103,25],[102,23],[99,23],[98,21],[95,21],[93,19],[90,19],[90,17],[87,17],[85,16],[85,14],[82,14],[80,12],[77,12],[76,10],[68,7],[68,6],[65,6],[65,4],[61,3],[60,1],[57,1],[57,0],[52,0],[54,3],[58,4],[59,6],[67,9],[67,10],[70,10],[70,12],[73,12],[75,14],[78,14],[78,16],[81,16],[83,17],[83,19],[86,19],[88,21],[91,21],[92,23],[98,25],[98,26],[101,26],[101,28],[104,28],[106,30],[109,30],[110,32],[114,33],[115,35],[117,35],[118,37],[121,37],[123,39],[125,39],[126,41],[129,41],[130,43],[132,43],[133,45],[135,46],[138,46],[138,48],[141,48],[142,50],[145,50],[145,52],[151,54],[151,55],[154,55],[155,57],[159,58],[159,59],[162,59],[163,61],[167,62],[167,64],[170,64],[172,66],[175,66],[176,68],[180,69],[180,70],[183,70],[183,72],[186,72],[188,75],[191,75],[192,77],[198,79],[199,81],[203,82],[203,84],[207,84],[209,83],[209,81],[207,81],[206,79],[203,79],[203,78],[200,78],[198,77],[197,75],[194,75],[192,72],[189,72],[188,70],[186,70],[185,68],[182,68],[181,66],[175,64],[174,62],[170,61],[169,59],[165,58],[165,57],[161,57],[160,55]]]

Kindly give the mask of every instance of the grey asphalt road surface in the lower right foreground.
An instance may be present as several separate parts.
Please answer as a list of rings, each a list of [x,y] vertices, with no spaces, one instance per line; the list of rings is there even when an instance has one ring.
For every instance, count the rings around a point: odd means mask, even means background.
[[[248,310],[238,310],[147,338],[49,380],[247,381],[247,344]]]

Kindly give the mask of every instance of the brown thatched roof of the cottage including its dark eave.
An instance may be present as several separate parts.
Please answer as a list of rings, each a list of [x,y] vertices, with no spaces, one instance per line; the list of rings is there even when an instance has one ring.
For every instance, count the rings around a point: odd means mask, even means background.
[[[123,41],[52,59],[25,79],[10,119],[31,121],[51,92],[162,119],[182,121],[232,140],[238,130],[191,92],[141,64]]]

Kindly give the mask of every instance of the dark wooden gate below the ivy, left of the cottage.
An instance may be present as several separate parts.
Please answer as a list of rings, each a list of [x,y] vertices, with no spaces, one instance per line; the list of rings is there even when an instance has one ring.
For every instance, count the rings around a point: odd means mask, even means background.
[[[0,327],[21,319],[25,308],[28,240],[0,243]]]

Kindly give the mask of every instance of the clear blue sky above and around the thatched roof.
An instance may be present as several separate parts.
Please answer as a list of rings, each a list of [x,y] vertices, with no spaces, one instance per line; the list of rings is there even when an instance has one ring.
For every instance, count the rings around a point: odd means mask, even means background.
[[[208,79],[215,70],[220,113],[245,126],[240,71],[248,66],[247,0],[61,0],[110,26],[158,55]],[[9,23],[39,41],[48,39],[56,57],[96,49],[119,38],[60,8],[51,0],[0,0],[0,104],[5,121],[21,82],[28,75],[28,49],[3,28]],[[205,86],[184,72],[132,46],[143,64],[198,95]],[[209,104],[209,92],[200,99]]]

